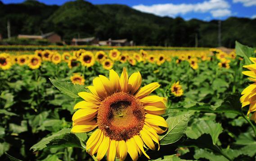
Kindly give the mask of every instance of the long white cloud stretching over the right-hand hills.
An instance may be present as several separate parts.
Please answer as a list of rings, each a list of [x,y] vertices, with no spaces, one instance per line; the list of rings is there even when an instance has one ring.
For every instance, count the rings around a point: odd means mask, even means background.
[[[225,10],[225,12],[228,13],[227,10],[229,10],[230,5],[225,0],[206,0],[204,2],[196,3],[196,4],[168,3],[168,4],[153,4],[150,6],[139,4],[139,5],[133,6],[133,8],[145,13],[153,13],[159,16],[175,17],[179,14],[184,15],[186,13],[191,13],[191,12],[211,13],[211,11],[220,10],[220,9]],[[229,15],[230,14],[231,14],[231,11],[229,11]]]

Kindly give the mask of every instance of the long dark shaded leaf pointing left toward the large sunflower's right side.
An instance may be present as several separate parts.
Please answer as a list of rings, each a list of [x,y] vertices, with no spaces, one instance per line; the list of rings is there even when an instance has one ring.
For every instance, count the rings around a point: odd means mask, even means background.
[[[197,103],[195,106],[191,106],[189,108],[185,108],[184,106],[180,107],[173,107],[171,109],[176,110],[196,110],[196,111],[203,111],[203,112],[230,112],[234,114],[243,114],[242,106],[240,103],[240,93],[234,93],[228,95],[224,102],[219,106],[211,106],[210,104],[203,104]]]

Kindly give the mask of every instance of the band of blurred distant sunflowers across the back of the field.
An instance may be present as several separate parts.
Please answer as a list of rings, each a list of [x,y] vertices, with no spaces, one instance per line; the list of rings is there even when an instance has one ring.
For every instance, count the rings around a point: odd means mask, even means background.
[[[36,50],[34,54],[0,54],[0,68],[3,70],[11,68],[12,65],[27,65],[31,69],[40,68],[42,62],[48,61],[54,64],[66,62],[69,68],[76,66],[91,67],[95,62],[102,64],[105,69],[112,69],[115,62],[136,65],[137,63],[151,63],[161,65],[166,61],[171,61],[175,57],[176,64],[181,61],[188,61],[190,67],[194,70],[198,69],[198,63],[201,61],[214,60],[213,55],[220,61],[220,68],[229,68],[230,59],[235,59],[236,54],[233,51],[226,54],[218,49],[210,49],[210,51],[118,51],[117,49],[110,50],[108,53],[104,51],[79,51],[63,52],[60,54],[58,51],[50,50]]]

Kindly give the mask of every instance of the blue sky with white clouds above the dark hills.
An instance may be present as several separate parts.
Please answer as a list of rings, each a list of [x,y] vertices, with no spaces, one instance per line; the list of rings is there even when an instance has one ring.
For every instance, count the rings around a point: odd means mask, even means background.
[[[4,4],[24,0],[2,0]],[[64,4],[70,0],[38,0],[45,4]],[[198,18],[204,21],[227,17],[256,18],[256,0],[87,0],[93,4],[126,4],[158,16]]]

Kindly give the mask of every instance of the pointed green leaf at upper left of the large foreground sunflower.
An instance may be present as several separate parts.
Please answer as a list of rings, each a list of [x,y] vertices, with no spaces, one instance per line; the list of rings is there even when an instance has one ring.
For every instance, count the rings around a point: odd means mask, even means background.
[[[69,97],[72,98],[78,98],[78,93],[85,91],[85,86],[84,85],[74,85],[71,82],[67,81],[62,81],[62,80],[54,80],[50,79],[49,80],[52,82],[52,84],[60,90],[62,93],[67,94]]]

